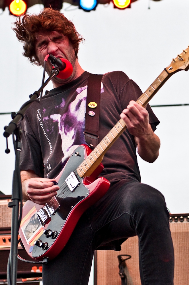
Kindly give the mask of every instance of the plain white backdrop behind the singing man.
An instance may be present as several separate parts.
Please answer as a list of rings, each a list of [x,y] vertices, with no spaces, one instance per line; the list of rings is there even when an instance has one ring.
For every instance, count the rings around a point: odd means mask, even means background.
[[[62,12],[86,39],[78,54],[83,69],[97,74],[122,70],[145,91],[171,59],[189,44],[189,1],[138,0],[131,6],[119,10],[110,3],[86,13],[64,3]],[[35,5],[28,12],[38,13],[42,8]],[[18,111],[42,80],[42,69],[32,66],[22,56],[22,44],[11,30],[14,20],[8,9],[0,15],[0,113]],[[151,105],[189,103],[188,79],[189,72],[173,75],[151,100]],[[51,88],[50,83],[46,89]],[[139,158],[142,182],[163,193],[171,213],[188,213],[189,106],[154,107],[153,111],[161,121],[156,130],[161,149],[153,164]],[[1,133],[10,120],[10,115],[0,115]],[[14,168],[11,138],[10,154],[4,152],[3,135],[0,145],[0,190],[11,194]]]

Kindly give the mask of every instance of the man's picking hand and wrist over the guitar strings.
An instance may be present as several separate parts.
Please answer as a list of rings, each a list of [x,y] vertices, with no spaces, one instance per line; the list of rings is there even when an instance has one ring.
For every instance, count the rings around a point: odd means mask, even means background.
[[[44,205],[57,195],[59,187],[54,184],[54,179],[36,176],[32,170],[21,171],[23,199]]]

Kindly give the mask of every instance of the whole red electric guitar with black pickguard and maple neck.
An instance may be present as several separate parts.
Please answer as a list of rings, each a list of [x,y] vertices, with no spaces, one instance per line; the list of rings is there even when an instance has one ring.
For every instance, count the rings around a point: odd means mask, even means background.
[[[137,103],[145,107],[172,74],[188,69],[189,48],[172,60]],[[84,211],[108,191],[110,182],[96,177],[103,170],[104,154],[125,129],[126,124],[120,119],[94,150],[85,144],[78,146],[55,178],[60,189],[48,204],[41,207],[32,201],[25,203],[19,235],[30,257],[35,260],[56,257]]]

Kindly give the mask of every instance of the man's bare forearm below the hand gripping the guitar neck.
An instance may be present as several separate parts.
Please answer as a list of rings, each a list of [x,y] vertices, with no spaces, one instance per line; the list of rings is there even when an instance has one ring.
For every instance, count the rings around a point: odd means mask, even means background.
[[[138,148],[139,156],[149,162],[154,162],[159,156],[159,148],[160,148],[160,139],[152,133],[142,137],[142,138],[135,138]]]

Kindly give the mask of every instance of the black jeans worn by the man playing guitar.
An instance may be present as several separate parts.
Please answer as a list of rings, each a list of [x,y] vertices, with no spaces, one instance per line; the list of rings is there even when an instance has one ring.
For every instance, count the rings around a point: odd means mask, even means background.
[[[43,284],[87,285],[95,249],[135,235],[141,284],[173,285],[174,251],[165,199],[151,186],[123,181],[82,215],[63,251],[43,266]]]

